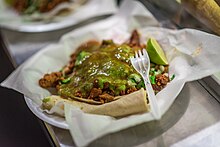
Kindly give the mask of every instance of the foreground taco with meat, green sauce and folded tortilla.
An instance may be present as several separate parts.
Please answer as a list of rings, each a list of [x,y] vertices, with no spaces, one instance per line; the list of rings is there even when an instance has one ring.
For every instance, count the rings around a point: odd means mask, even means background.
[[[61,101],[86,113],[114,117],[149,111],[144,81],[130,62],[135,51],[142,48],[146,46],[140,43],[136,30],[123,44],[113,40],[82,44],[71,55],[68,65],[39,80],[41,87],[54,87],[58,95],[45,98],[43,109],[50,110]],[[152,63],[150,75],[157,93],[169,82],[168,65]]]

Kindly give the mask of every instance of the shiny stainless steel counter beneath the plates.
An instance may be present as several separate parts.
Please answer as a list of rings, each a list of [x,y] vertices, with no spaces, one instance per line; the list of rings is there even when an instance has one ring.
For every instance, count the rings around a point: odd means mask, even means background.
[[[152,6],[147,3],[145,5],[153,10]],[[167,20],[165,18],[161,19],[165,22],[165,26],[175,26],[168,18]],[[2,33],[12,57],[19,65],[41,48],[57,42],[62,34],[85,24],[81,23],[70,28],[44,33],[30,34],[10,30],[3,30]],[[205,84],[201,83],[202,81],[186,83],[172,107],[160,121],[144,123],[106,135],[89,146],[171,146],[215,125],[220,122],[220,103],[215,99],[219,96],[213,96],[204,87]],[[47,129],[57,146],[74,146],[68,130],[48,124]]]

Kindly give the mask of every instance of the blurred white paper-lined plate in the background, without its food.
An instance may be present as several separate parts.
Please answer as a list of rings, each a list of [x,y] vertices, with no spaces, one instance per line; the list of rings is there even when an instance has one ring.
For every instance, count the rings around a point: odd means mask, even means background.
[[[73,26],[92,17],[112,14],[115,11],[116,4],[113,0],[88,0],[82,5],[75,5],[74,10],[67,16],[55,17],[50,22],[30,21],[7,7],[4,0],[0,0],[0,27],[19,32],[54,31]]]

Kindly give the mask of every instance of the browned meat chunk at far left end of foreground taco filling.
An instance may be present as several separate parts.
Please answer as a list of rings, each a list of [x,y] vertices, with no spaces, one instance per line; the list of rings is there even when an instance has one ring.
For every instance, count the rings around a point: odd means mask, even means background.
[[[39,80],[39,85],[43,88],[56,87],[61,76],[61,72],[52,72],[51,74],[45,74],[44,77]]]

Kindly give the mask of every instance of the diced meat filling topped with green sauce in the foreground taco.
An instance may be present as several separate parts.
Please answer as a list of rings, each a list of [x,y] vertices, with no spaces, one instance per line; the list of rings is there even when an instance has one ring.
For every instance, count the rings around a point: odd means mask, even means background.
[[[39,85],[56,88],[62,98],[92,104],[114,101],[118,99],[116,96],[145,88],[143,79],[131,65],[130,57],[146,47],[140,43],[136,30],[124,44],[115,44],[112,40],[103,40],[100,44],[90,40],[71,54],[68,64],[60,71],[45,74]],[[168,67],[151,63],[149,78],[155,93],[172,80],[169,79]]]

